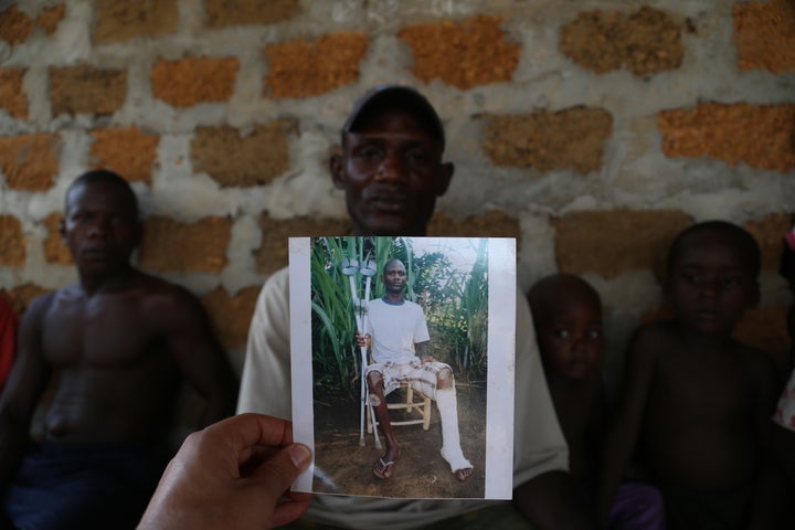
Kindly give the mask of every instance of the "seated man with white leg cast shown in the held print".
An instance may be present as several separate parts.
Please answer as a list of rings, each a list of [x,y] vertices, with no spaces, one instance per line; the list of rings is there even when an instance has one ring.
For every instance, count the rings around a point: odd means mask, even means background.
[[[372,351],[373,362],[367,368],[368,392],[375,409],[375,417],[386,441],[386,452],[375,460],[372,471],[379,478],[390,478],[401,451],[392,432],[385,394],[401,382],[432,396],[442,420],[442,456],[460,481],[473,474],[473,465],[464,457],[458,433],[458,407],[453,370],[448,364],[425,354],[431,339],[422,308],[403,298],[406,286],[405,265],[391,259],[384,266],[383,298],[372,300],[364,335],[357,332],[360,347]],[[413,344],[413,348],[406,348]]]

